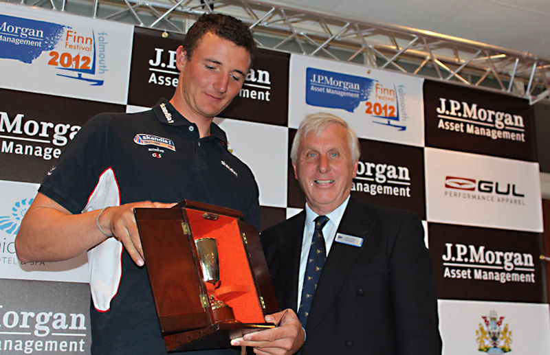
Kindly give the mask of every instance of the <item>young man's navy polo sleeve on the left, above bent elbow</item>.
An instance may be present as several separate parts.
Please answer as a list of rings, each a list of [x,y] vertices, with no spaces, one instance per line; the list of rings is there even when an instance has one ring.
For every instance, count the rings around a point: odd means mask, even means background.
[[[111,117],[102,113],[90,119],[63,150],[39,188],[72,214],[83,211],[100,175],[110,166],[107,153]]]

